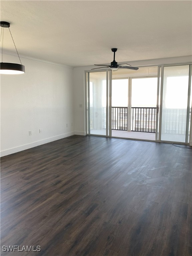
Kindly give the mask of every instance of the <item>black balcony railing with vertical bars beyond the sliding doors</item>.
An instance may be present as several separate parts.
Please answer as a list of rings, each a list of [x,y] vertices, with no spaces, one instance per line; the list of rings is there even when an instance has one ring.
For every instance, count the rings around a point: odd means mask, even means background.
[[[162,120],[162,131],[164,133],[185,134],[186,131],[186,110],[166,109]],[[106,129],[106,108],[97,109],[93,113],[90,107],[90,129]],[[99,121],[96,119],[99,118]],[[189,124],[191,109],[189,113]],[[128,129],[128,108],[112,107],[112,130],[127,131]],[[99,128],[98,128],[99,126]],[[190,130],[190,127],[189,127]],[[156,107],[132,107],[131,108],[131,131],[135,132],[156,132]]]

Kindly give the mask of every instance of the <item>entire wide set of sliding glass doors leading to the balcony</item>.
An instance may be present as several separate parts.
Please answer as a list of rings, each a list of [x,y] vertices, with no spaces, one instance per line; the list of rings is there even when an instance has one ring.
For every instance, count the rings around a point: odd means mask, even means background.
[[[191,69],[178,64],[87,72],[87,134],[189,143]]]

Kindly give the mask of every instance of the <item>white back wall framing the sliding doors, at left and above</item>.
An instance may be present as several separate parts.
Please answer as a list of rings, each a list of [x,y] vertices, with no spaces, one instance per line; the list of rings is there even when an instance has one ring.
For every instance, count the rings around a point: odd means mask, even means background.
[[[161,65],[161,64],[176,64],[191,62],[192,57],[176,57],[167,59],[155,59],[155,60],[144,60],[144,61],[133,61],[126,62],[132,66],[147,66],[147,65]],[[99,64],[99,63],[98,63]],[[95,66],[76,67],[73,69],[74,79],[74,120],[75,120],[75,131],[77,134],[86,134],[86,88],[85,88],[85,77],[84,71],[95,68]],[[84,99],[85,98],[85,99]],[[79,108],[79,104],[83,103],[83,108]]]

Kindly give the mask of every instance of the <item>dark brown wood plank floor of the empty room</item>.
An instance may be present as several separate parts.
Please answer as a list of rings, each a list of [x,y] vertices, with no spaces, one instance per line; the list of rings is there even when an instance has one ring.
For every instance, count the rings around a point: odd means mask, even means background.
[[[191,172],[191,149],[94,136],[2,157],[1,255],[191,256]]]

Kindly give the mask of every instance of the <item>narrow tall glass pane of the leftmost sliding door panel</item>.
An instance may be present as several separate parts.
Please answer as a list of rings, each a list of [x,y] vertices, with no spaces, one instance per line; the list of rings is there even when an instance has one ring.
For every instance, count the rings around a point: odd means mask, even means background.
[[[106,71],[89,73],[90,134],[106,135]]]

